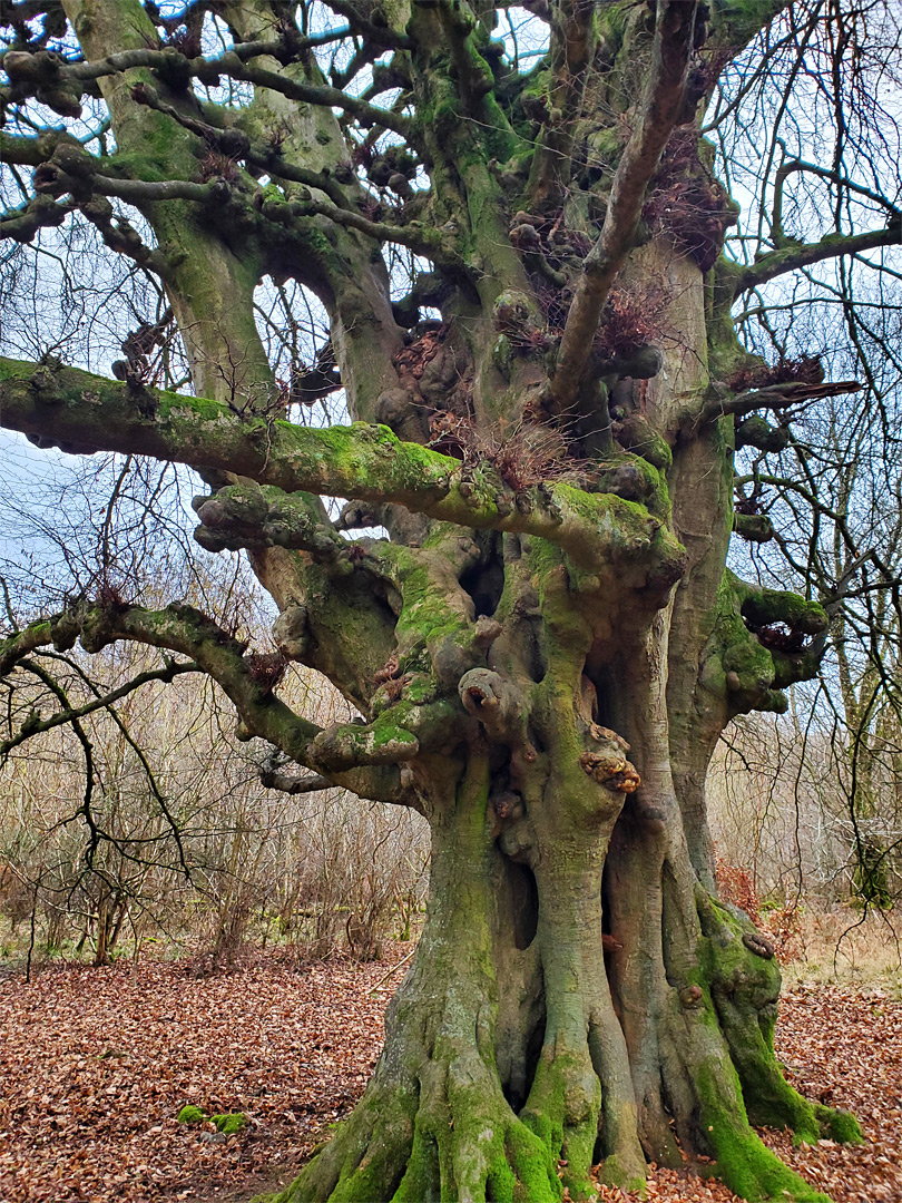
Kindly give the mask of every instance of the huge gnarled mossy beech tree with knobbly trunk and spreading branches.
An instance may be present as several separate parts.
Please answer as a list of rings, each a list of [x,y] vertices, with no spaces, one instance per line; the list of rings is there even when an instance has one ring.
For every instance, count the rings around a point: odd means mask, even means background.
[[[895,35],[882,5],[839,0],[526,8],[4,0],[0,232],[51,245],[87,223],[165,303],[114,379],[4,360],[0,422],[190,466],[197,543],[247,552],[279,616],[278,651],[250,650],[100,582],[13,629],[0,671],[77,641],[161,648],[281,757],[269,787],[428,819],[385,1050],[284,1203],[540,1203],[591,1196],[599,1162],[641,1187],[647,1160],[684,1158],[748,1199],[821,1198],[750,1125],[860,1131],[781,1073],[779,972],[718,900],[705,775],[734,716],[817,671],[858,567],[833,598],[728,568],[731,534],[772,534],[756,469],[734,510],[737,448],[781,452],[819,398],[861,404],[813,354],[750,354],[735,307],[818,265],[848,284],[900,242],[867,75],[890,87]],[[521,54],[527,18],[546,41]],[[787,142],[794,102],[827,106],[820,158]],[[752,213],[730,254],[718,146]],[[328,315],[289,375],[261,280]],[[156,386],[173,322],[190,387]],[[339,389],[350,425],[304,419]],[[295,712],[287,660],[360,717]]]

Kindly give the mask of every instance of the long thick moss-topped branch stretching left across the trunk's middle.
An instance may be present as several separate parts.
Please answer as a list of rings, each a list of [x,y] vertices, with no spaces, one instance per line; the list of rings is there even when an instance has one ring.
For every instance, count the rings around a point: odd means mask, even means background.
[[[394,502],[464,527],[540,535],[581,567],[637,558],[678,571],[682,549],[636,502],[556,482],[515,492],[387,426],[327,429],[64,368],[0,358],[0,425],[71,454],[119,451],[249,476],[286,493]]]

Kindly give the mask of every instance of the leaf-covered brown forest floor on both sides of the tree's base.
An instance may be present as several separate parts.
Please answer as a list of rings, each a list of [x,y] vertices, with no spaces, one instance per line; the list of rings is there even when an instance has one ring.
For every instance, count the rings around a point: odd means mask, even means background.
[[[243,1203],[287,1183],[362,1091],[409,947],[362,966],[298,967],[281,952],[215,976],[141,960],[0,978],[1,1203]],[[794,1084],[850,1108],[867,1143],[765,1140],[835,1203],[902,1203],[902,1002],[874,985],[796,980],[778,1049]],[[249,1124],[229,1137],[179,1124],[188,1103]],[[648,1193],[734,1198],[653,1167]]]

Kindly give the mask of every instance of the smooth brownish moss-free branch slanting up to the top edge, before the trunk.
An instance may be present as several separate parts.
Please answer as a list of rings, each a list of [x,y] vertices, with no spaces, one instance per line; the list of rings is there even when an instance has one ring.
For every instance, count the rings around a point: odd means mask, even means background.
[[[672,129],[683,115],[695,7],[694,2],[677,0],[658,5],[649,87],[639,124],[613,177],[601,233],[583,262],[560,340],[551,380],[551,398],[557,411],[568,409],[576,398],[592,355],[601,308],[635,239],[646,188]]]

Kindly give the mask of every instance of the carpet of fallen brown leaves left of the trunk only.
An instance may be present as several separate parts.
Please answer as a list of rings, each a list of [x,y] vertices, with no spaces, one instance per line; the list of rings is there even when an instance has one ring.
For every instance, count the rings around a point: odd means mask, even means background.
[[[387,1001],[369,991],[388,968],[267,955],[208,978],[142,961],[6,979],[0,1198],[226,1198],[297,1162],[366,1085]],[[249,1127],[210,1140],[212,1122],[178,1124],[189,1103]]]

